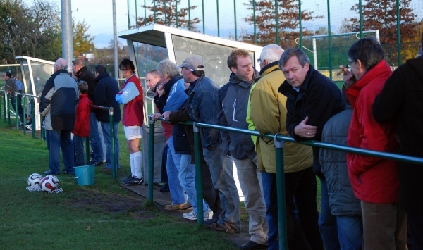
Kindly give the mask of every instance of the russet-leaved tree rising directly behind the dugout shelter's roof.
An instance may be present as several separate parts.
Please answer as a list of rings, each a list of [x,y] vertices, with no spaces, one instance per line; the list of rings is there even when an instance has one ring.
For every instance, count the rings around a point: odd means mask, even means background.
[[[194,10],[198,6],[190,6],[190,8],[178,8],[178,10],[176,10],[176,2],[179,6],[180,0],[155,0],[152,1],[151,6],[142,5],[141,8],[148,8],[149,11],[153,12],[153,14],[147,17],[138,18],[137,25],[144,26],[157,23],[170,27],[183,27],[187,30],[198,32],[199,30],[197,29],[196,25],[197,23],[200,23],[200,19],[186,19],[188,11]],[[178,17],[176,17],[176,15],[178,15]]]

